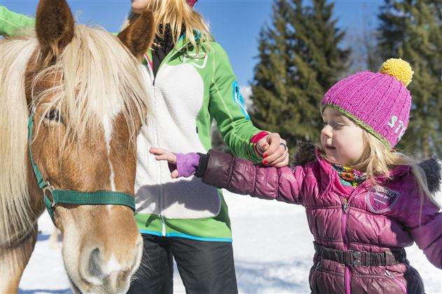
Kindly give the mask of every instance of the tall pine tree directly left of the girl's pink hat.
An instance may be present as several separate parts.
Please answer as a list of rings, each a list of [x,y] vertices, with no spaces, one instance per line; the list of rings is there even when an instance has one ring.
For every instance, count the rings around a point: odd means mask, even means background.
[[[332,19],[333,3],[275,1],[274,22],[261,30],[252,83],[252,119],[289,142],[318,141],[324,92],[346,71],[344,33]]]

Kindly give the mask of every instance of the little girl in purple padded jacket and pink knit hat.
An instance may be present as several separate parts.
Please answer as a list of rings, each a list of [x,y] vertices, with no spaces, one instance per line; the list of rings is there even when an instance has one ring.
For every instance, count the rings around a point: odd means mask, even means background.
[[[315,237],[312,293],[424,293],[404,247],[415,241],[442,268],[442,214],[431,197],[440,167],[392,150],[408,125],[412,75],[407,62],[389,59],[380,73],[336,83],[322,99],[320,147],[302,144],[292,169],[217,151],[151,153],[170,163],[172,178],[195,174],[233,193],[303,205]]]

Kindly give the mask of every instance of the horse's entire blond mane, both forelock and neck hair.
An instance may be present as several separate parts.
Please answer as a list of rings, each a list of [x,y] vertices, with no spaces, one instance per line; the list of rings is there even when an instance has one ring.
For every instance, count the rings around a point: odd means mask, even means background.
[[[25,73],[32,54],[41,54],[34,34],[0,41],[0,245],[34,225],[29,218],[27,190],[29,107],[25,94]],[[50,74],[57,77],[53,86],[34,95],[34,86]],[[60,111],[66,118],[65,144],[72,138],[97,134],[104,118],[113,119],[118,114],[106,110],[120,109],[131,144],[136,144],[138,126],[134,118],[146,123],[150,114],[144,74],[141,64],[118,38],[104,29],[76,25],[74,38],[57,60],[34,73],[32,103],[43,109],[37,129],[46,113]],[[50,99],[44,99],[46,95]]]

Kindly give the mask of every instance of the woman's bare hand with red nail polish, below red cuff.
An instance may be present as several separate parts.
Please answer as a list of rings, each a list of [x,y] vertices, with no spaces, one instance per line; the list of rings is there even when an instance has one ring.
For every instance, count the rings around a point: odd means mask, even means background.
[[[289,148],[278,133],[268,134],[259,140],[256,148],[263,154],[263,164],[269,167],[285,167],[289,164]]]

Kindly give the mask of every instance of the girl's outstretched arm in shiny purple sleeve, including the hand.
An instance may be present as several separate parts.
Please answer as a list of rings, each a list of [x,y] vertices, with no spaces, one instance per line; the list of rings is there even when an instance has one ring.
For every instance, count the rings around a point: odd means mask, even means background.
[[[174,154],[151,148],[156,160],[167,160],[172,178],[195,174],[203,183],[226,188],[237,194],[302,204],[301,187],[304,169],[296,167],[259,167],[249,160],[233,158],[227,153],[210,150],[206,154]]]

